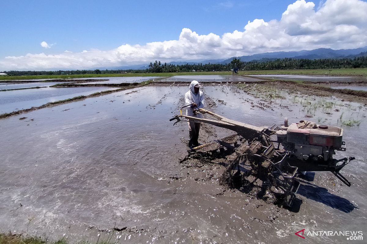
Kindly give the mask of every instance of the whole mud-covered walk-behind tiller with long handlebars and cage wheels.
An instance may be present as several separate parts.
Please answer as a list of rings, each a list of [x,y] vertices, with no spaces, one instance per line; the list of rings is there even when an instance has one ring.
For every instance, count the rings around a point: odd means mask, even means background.
[[[184,107],[182,107],[184,108]],[[257,127],[230,120],[206,109],[196,109],[203,118],[176,115],[170,121],[180,118],[207,123],[237,132],[219,140],[192,149],[200,155],[218,155],[215,151],[226,151],[229,161],[222,180],[232,187],[258,184],[261,192],[278,191],[280,205],[291,206],[299,187],[296,174],[307,171],[330,171],[344,184],[350,182],[340,170],[354,157],[334,159],[335,150],[345,151],[342,141],[343,129],[328,125],[317,125],[310,121],[300,121],[288,126],[287,119],[281,128],[273,125]]]

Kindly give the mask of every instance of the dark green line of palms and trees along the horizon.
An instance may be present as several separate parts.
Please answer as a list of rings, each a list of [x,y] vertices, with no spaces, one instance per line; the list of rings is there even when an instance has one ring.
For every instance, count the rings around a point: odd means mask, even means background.
[[[231,71],[233,68],[239,70],[308,70],[308,69],[332,69],[332,68],[366,68],[366,56],[355,57],[353,59],[275,59],[261,61],[243,62],[234,58],[226,64],[167,64],[155,61],[149,64],[145,70],[66,70],[66,71],[4,71],[8,75],[69,75],[69,74],[119,74],[119,73],[172,73],[172,72],[192,72],[192,71]]]

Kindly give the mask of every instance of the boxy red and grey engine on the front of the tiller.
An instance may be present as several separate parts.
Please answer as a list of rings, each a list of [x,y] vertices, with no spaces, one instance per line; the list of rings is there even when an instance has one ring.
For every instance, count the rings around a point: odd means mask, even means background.
[[[282,127],[282,130],[276,132],[277,140],[290,153],[290,157],[305,161],[331,162],[335,150],[345,151],[343,129],[313,124],[311,128],[299,128],[299,123]]]

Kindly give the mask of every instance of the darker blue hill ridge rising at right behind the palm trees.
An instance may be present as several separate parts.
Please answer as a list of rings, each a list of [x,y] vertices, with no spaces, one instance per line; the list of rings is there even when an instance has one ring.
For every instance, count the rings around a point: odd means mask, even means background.
[[[313,50],[301,50],[292,52],[272,52],[272,53],[259,53],[249,56],[236,57],[241,59],[241,61],[257,61],[262,59],[284,59],[284,58],[294,58],[294,59],[339,59],[344,57],[350,57],[353,55],[359,55],[361,52],[367,52],[367,46],[364,48],[356,49],[339,49],[334,50],[330,48],[319,48]],[[354,56],[353,56],[354,57]],[[235,57],[231,57],[221,62],[221,64],[230,63]]]

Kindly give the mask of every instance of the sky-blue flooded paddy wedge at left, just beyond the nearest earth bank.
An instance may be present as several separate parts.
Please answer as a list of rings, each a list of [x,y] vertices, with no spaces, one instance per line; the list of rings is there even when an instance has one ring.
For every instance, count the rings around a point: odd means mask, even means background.
[[[27,90],[2,91],[0,93],[0,113],[37,107],[48,102],[55,102],[80,95],[89,95],[98,91],[116,90],[111,87],[73,87],[39,88]]]

